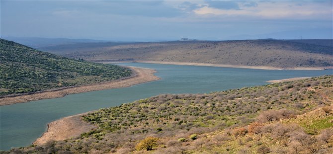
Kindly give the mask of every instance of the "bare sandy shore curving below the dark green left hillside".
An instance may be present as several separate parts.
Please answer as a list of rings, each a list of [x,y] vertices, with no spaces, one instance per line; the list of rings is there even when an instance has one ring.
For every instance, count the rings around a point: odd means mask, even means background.
[[[57,98],[57,97],[63,97],[68,94],[80,93],[80,92],[128,87],[131,85],[160,79],[159,77],[154,76],[154,73],[156,71],[153,69],[135,68],[135,67],[129,67],[129,68],[131,68],[135,72],[134,77],[114,80],[110,82],[96,83],[96,84],[57,89],[57,90],[49,90],[33,94],[19,95],[13,97],[3,97],[0,98],[0,105],[24,103],[28,101],[47,99],[47,98]]]

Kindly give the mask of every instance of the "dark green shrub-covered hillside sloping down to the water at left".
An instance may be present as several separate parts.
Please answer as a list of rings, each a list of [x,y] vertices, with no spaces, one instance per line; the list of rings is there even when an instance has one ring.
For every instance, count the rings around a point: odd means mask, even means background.
[[[73,60],[0,40],[0,95],[34,92],[131,76],[131,70]]]

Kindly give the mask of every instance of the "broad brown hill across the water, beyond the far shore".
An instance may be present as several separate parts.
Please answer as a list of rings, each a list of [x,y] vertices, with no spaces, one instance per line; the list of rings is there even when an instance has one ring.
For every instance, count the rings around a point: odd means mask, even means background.
[[[295,41],[295,40],[292,40]],[[323,42],[324,41],[324,42]],[[175,41],[158,43],[89,43],[40,48],[89,61],[161,61],[278,68],[332,67],[327,40]],[[323,45],[318,45],[323,42]]]

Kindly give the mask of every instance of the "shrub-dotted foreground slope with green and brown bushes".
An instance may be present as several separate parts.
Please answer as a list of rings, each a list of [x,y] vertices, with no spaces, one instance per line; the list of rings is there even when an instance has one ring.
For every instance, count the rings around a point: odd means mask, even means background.
[[[285,154],[296,148],[299,154],[325,154],[332,151],[332,133],[324,136],[333,128],[332,99],[333,76],[209,94],[163,94],[84,115],[96,128],[80,137],[3,153]],[[157,140],[153,151],[140,148],[145,138]]]

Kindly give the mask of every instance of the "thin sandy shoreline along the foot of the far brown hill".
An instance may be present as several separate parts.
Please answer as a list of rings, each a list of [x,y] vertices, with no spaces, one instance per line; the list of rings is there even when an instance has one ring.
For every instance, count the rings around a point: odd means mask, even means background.
[[[269,67],[269,66],[245,66],[245,65],[227,65],[227,64],[208,64],[208,63],[188,63],[188,62],[162,62],[162,61],[110,61],[110,62],[96,62],[103,64],[116,64],[116,63],[150,63],[150,64],[171,64],[171,65],[189,65],[189,66],[209,66],[209,67],[222,67],[222,68],[241,68],[241,69],[260,69],[260,70],[328,70],[333,67]]]

